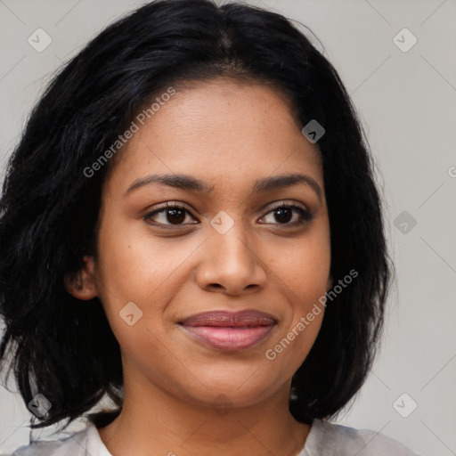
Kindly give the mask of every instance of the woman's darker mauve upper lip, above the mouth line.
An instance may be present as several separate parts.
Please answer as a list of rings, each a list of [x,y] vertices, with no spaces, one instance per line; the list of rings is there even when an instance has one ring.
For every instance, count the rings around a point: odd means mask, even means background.
[[[194,314],[182,320],[184,326],[270,326],[277,322],[271,314],[257,310],[242,310],[238,312],[211,311]]]

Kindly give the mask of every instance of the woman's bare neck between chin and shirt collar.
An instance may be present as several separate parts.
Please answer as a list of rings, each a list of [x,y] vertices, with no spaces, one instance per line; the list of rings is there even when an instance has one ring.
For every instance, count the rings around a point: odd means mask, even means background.
[[[261,403],[216,408],[125,375],[122,411],[99,434],[112,456],[297,456],[310,426],[289,413],[290,383]]]

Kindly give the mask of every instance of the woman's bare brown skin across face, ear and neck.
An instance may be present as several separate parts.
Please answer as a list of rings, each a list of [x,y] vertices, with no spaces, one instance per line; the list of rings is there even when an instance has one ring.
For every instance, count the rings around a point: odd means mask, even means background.
[[[292,456],[304,446],[310,427],[289,413],[289,390],[324,313],[273,361],[265,357],[331,286],[322,160],[301,128],[284,94],[217,78],[178,88],[110,164],[97,255],[85,256],[82,288],[67,282],[67,289],[101,299],[121,346],[124,407],[99,429],[114,456],[214,449],[219,456]],[[311,176],[321,199],[305,183],[252,192],[256,179],[294,173]],[[214,189],[199,194],[156,183],[125,196],[151,174],[192,175]],[[314,218],[296,224],[301,216],[289,209],[281,221],[273,207],[284,200]],[[166,211],[143,218],[165,202],[193,216],[184,213],[178,224]],[[234,223],[224,234],[210,224],[220,211]],[[129,302],[142,310],[132,326],[119,317]],[[278,323],[239,352],[202,345],[177,324],[191,314],[241,309],[268,312]],[[216,408],[219,395],[227,410]]]

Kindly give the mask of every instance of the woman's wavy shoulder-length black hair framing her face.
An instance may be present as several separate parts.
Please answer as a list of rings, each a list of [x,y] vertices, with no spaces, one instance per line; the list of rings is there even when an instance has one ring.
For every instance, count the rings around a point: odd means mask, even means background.
[[[337,415],[362,386],[379,346],[393,265],[382,201],[361,122],[338,72],[281,14],[247,4],[166,0],[112,23],[53,78],[31,112],[6,169],[0,199],[0,310],[25,403],[52,408],[32,428],[122,406],[118,341],[98,298],[69,295],[63,277],[94,255],[102,183],[87,177],[134,114],[164,86],[231,77],[289,95],[318,141],[330,218],[333,283],[356,279],[326,308],[294,374],[289,411],[300,422]],[[98,416],[98,415],[97,415]],[[102,417],[103,415],[100,415]]]

